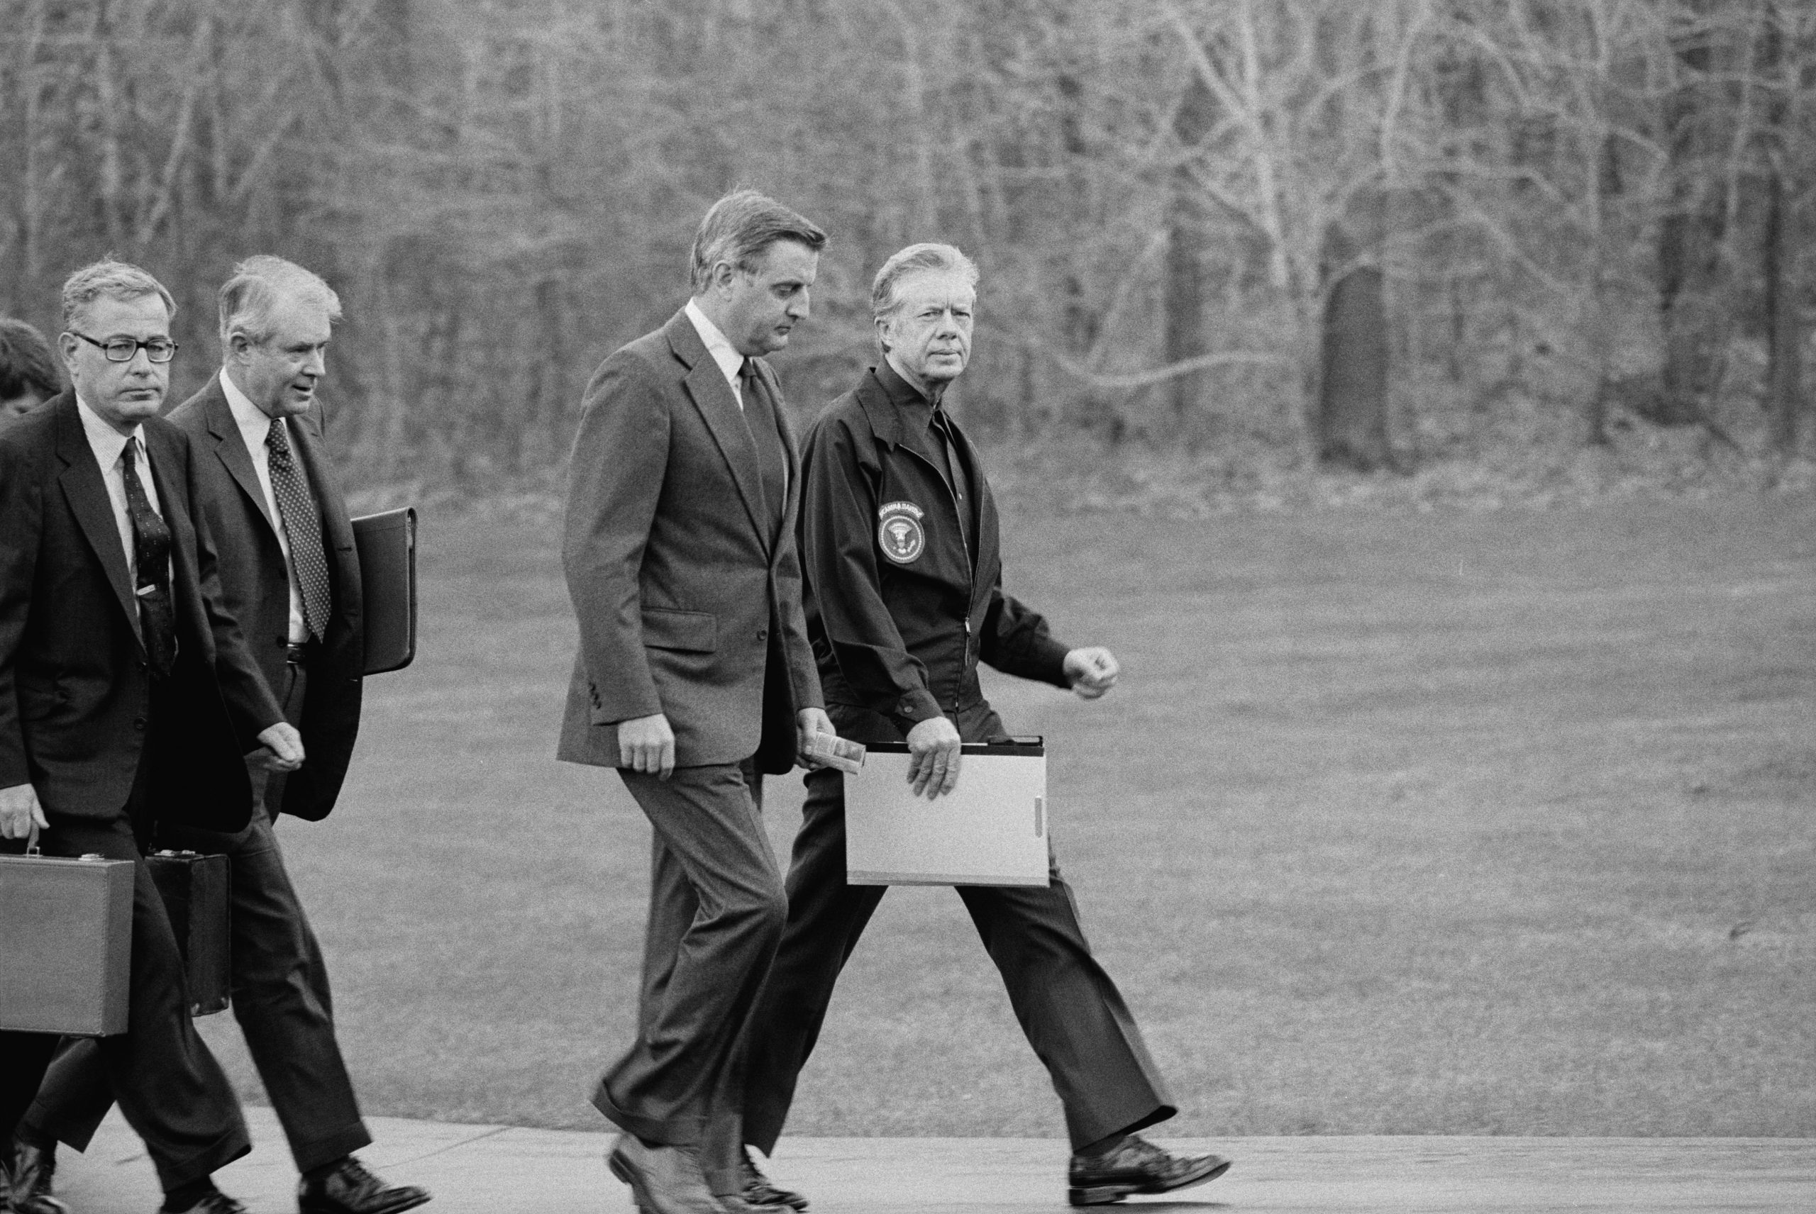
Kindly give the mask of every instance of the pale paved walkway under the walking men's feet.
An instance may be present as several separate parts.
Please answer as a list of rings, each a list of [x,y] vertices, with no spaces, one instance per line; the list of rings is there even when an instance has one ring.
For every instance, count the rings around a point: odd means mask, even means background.
[[[247,1109],[256,1149],[220,1172],[252,1214],[294,1214],[296,1174],[269,1109]],[[632,1214],[605,1172],[608,1134],[370,1118],[360,1152],[392,1181],[429,1187],[425,1214]],[[1397,1214],[1485,1210],[1816,1210],[1811,1138],[1235,1138],[1160,1140],[1217,1150],[1229,1172],[1175,1198],[1197,1210]],[[156,1180],[118,1112],[87,1154],[58,1154],[73,1214],[151,1214]],[[770,1172],[812,1214],[1066,1210],[1066,1147],[1039,1138],[790,1138]]]

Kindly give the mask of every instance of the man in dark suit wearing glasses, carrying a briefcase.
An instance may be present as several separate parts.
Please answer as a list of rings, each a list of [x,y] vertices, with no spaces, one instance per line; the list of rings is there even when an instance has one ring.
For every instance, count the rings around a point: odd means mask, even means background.
[[[189,1020],[140,851],[156,820],[242,829],[243,755],[263,748],[262,766],[294,769],[303,748],[220,606],[189,437],[156,416],[173,310],[138,267],[73,274],[58,339],[73,388],[0,426],[0,837],[136,864],[129,1027],[98,1052],[163,1209],[236,1214],[211,1174],[251,1149],[245,1123]],[[0,1043],[7,1141],[49,1045]],[[20,1163],[15,1210],[58,1209],[49,1178]]]

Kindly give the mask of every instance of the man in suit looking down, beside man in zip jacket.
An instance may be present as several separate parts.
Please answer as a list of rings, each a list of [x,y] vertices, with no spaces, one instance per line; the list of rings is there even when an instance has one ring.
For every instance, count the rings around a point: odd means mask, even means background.
[[[761,773],[832,733],[801,619],[795,441],[774,372],[824,232],[754,192],[694,240],[694,298],[587,387],[563,566],[579,655],[558,755],[654,827],[637,1040],[594,1105],[650,1214],[743,1212],[745,1022],[786,900]]]

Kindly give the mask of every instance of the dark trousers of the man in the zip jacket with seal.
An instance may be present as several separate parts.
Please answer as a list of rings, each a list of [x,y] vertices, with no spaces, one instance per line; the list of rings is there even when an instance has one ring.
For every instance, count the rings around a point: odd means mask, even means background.
[[[873,737],[879,719],[832,706],[844,737]],[[961,737],[1004,733],[988,704],[961,711]],[[961,769],[959,778],[964,778]],[[844,778],[806,777],[801,833],[788,867],[788,927],[752,1018],[745,1069],[745,1141],[765,1154],[781,1138],[795,1080],[819,1040],[832,987],[886,886],[844,884]],[[1164,1121],[1166,1094],[1140,1029],[1079,927],[1071,886],[1050,860],[1044,887],[959,886],[984,951],[1002,974],[1028,1043],[1066,1111],[1071,1147]]]

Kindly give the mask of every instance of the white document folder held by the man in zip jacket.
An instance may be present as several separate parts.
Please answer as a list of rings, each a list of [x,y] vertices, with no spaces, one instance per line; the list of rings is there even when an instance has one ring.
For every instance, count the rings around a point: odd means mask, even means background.
[[[854,886],[1044,886],[1046,746],[964,746],[959,786],[908,788],[908,744],[879,742],[844,775],[844,880]]]

